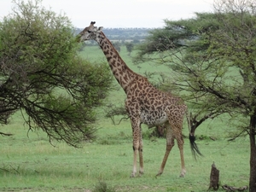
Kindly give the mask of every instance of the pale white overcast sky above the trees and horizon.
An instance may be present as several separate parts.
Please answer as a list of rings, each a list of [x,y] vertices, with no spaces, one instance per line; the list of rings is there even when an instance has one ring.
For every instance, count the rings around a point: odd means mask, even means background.
[[[27,0],[24,0],[27,2]],[[195,12],[212,12],[214,0],[42,0],[46,9],[65,13],[73,26],[84,28],[90,21],[96,26],[165,26],[164,20],[188,19]],[[0,0],[0,20],[12,12],[12,0]]]

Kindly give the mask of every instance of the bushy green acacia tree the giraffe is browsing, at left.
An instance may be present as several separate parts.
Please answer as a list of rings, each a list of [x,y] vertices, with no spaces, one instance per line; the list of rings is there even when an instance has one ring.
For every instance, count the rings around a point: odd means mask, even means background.
[[[20,110],[29,129],[77,147],[94,137],[94,109],[111,89],[112,75],[105,64],[79,57],[66,15],[40,0],[14,4],[0,23],[0,122]]]

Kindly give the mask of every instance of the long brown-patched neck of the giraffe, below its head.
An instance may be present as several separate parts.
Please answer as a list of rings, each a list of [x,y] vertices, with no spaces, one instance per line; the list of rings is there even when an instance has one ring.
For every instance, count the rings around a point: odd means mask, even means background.
[[[103,32],[96,37],[96,42],[102,48],[102,51],[108,60],[108,64],[111,68],[113,76],[126,92],[129,84],[140,75],[131,71]]]

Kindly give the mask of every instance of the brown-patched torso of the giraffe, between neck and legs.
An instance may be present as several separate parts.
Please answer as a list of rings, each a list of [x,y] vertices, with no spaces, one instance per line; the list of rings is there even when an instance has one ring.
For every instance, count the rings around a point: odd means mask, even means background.
[[[125,107],[131,117],[140,118],[140,122],[149,127],[162,125],[168,119],[175,123],[183,122],[187,109],[182,99],[154,88],[148,79],[138,77],[127,90]]]

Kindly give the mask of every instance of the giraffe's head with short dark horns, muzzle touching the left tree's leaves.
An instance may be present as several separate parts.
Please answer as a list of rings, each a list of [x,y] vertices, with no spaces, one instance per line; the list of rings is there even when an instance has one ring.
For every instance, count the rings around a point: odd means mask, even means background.
[[[79,32],[79,42],[90,39],[96,40],[97,34],[102,32],[103,27],[100,26],[99,28],[97,28],[96,26],[94,26],[95,23],[95,21],[91,21],[90,26],[85,27],[82,32]]]

